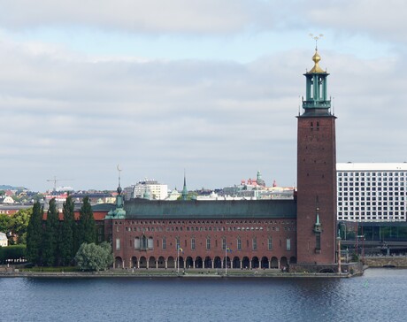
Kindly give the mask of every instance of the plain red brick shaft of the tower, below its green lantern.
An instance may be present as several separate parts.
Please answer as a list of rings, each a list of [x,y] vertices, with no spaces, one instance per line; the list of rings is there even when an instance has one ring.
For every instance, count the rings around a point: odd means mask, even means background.
[[[298,117],[297,260],[334,263],[336,237],[335,117]],[[319,209],[320,248],[314,225]]]

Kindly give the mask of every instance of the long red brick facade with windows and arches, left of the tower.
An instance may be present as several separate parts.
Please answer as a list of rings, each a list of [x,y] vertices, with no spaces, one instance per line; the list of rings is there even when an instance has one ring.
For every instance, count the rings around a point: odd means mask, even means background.
[[[296,219],[113,219],[105,228],[116,268],[176,269],[178,257],[181,269],[225,268],[225,257],[237,269],[296,263]]]

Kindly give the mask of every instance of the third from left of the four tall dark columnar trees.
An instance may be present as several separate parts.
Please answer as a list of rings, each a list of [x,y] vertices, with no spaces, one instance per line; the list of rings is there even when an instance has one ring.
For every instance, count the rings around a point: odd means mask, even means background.
[[[63,206],[64,221],[61,222],[61,234],[58,234],[60,264],[67,266],[73,262],[75,256],[75,246],[73,242],[73,232],[75,228],[74,203],[72,196],[68,196]]]

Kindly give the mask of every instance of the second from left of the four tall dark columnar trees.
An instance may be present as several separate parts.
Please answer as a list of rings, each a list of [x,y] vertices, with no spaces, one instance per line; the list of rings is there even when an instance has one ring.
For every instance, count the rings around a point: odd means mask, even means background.
[[[55,198],[50,200],[42,239],[42,264],[56,265],[58,259],[58,208]]]

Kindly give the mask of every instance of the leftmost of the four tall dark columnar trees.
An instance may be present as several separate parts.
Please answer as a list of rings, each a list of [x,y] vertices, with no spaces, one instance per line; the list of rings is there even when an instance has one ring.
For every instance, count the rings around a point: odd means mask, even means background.
[[[41,264],[43,212],[41,204],[35,202],[27,226],[27,260],[35,265]]]

